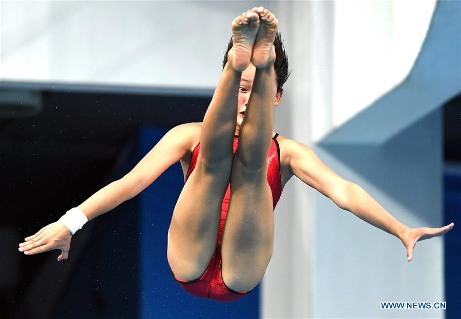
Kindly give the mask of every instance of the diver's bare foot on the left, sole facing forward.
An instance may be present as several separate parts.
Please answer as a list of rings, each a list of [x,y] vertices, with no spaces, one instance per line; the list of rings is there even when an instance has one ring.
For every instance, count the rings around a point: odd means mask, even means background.
[[[259,15],[252,10],[243,12],[232,22],[233,46],[229,54],[232,55],[232,66],[236,71],[241,72],[248,67],[258,28]]]

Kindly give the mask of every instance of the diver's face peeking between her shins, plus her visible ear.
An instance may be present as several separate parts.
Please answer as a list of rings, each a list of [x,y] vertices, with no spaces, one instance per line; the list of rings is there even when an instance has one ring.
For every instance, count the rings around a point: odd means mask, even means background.
[[[240,80],[239,88],[239,99],[238,99],[238,109],[237,109],[237,128],[242,124],[243,118],[245,117],[244,112],[248,105],[248,99],[252,93],[253,80],[255,78],[256,68],[253,63],[250,63],[248,68],[242,72],[242,78]],[[274,106],[277,105],[282,97],[281,92],[277,92],[277,82],[274,78]]]

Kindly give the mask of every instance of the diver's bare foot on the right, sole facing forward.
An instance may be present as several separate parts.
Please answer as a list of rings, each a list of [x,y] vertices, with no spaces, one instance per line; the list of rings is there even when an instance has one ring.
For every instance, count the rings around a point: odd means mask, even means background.
[[[260,21],[253,46],[252,63],[257,69],[260,69],[275,61],[274,40],[279,21],[273,13],[263,7],[253,8],[252,12],[259,15]]]

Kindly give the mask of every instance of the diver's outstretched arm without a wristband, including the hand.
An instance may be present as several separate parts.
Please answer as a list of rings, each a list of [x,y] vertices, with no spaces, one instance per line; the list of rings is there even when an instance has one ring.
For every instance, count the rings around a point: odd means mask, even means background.
[[[413,247],[417,241],[440,236],[453,227],[452,223],[441,228],[409,228],[393,217],[361,186],[333,172],[309,147],[292,140],[286,141],[284,145],[292,174],[330,198],[340,208],[399,238],[407,248],[408,261],[413,257]]]

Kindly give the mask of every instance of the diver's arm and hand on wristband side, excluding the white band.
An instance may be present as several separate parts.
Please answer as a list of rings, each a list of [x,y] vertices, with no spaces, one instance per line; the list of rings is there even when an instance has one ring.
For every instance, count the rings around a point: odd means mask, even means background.
[[[174,127],[130,173],[101,188],[77,208],[85,214],[88,220],[91,220],[136,196],[155,181],[166,168],[187,155],[193,142],[191,137],[196,131],[195,123]],[[25,242],[20,243],[18,249],[27,255],[60,249],[61,254],[57,260],[61,261],[69,257],[71,239],[72,233],[69,228],[58,220],[25,238]]]

